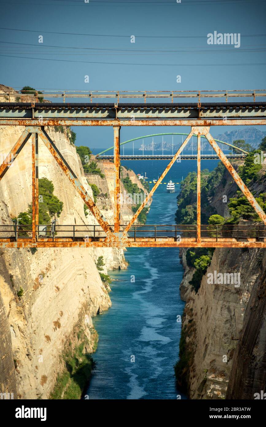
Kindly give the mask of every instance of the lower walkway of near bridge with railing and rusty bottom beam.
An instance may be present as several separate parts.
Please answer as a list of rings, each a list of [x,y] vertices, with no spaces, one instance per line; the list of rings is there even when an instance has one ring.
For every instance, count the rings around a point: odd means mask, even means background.
[[[113,233],[113,225],[110,226]],[[119,232],[124,231],[121,226]],[[105,241],[99,225],[0,225],[0,247],[258,247],[266,248],[266,225],[133,225],[127,240]]]

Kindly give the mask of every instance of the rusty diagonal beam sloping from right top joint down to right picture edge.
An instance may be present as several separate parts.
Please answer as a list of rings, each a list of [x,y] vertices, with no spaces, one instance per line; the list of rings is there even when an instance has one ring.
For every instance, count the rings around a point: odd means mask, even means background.
[[[208,141],[211,144],[212,148],[216,151],[217,155],[219,156],[220,160],[225,165],[225,167],[228,170],[228,172],[231,173],[232,177],[234,178],[234,181],[236,181],[238,187],[240,188],[240,190],[242,191],[242,193],[244,194],[244,196],[246,196],[246,198],[248,199],[249,203],[252,205],[252,207],[257,212],[257,214],[260,217],[260,219],[262,219],[262,221],[264,222],[264,225],[266,225],[266,214],[263,211],[263,209],[260,207],[260,205],[258,204],[258,202],[255,200],[253,194],[249,191],[248,187],[244,184],[244,182],[242,181],[242,179],[240,178],[240,176],[238,175],[238,173],[236,172],[236,170],[234,170],[233,166],[231,165],[231,163],[229,162],[229,160],[226,158],[226,156],[224,155],[223,151],[220,149],[220,147],[214,141],[214,138],[211,136],[211,134],[209,132],[208,132],[208,134],[206,134],[206,138],[208,139]]]

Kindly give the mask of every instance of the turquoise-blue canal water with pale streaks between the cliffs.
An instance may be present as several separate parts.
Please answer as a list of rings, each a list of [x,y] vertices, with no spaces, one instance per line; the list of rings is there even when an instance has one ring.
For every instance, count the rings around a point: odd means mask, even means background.
[[[167,161],[127,161],[135,173],[157,178]],[[217,161],[202,161],[212,170]],[[174,164],[168,179],[180,182],[195,161]],[[164,180],[166,181],[166,180]],[[167,181],[166,181],[167,182]],[[147,224],[174,224],[176,193],[162,184],[154,193]],[[176,399],[173,365],[179,354],[185,303],[179,295],[183,268],[174,248],[130,248],[125,252],[127,270],[110,272],[112,307],[93,319],[99,334],[87,395],[90,399]],[[135,281],[133,281],[135,280]]]

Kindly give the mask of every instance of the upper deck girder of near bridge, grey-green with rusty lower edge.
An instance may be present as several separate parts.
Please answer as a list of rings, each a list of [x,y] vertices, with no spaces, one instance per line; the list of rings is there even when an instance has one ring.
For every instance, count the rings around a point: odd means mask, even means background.
[[[20,124],[25,126],[58,124],[77,126],[115,126],[114,120],[126,126],[136,126],[138,121],[152,123],[154,119],[171,123],[180,120],[186,125],[197,126],[204,120],[228,125],[237,124],[240,119],[253,121],[266,118],[265,100],[257,102],[150,102],[150,103],[74,103],[74,102],[0,102],[0,125]],[[95,123],[93,123],[95,121]],[[101,121],[103,121],[101,123]],[[192,125],[192,122],[195,122]],[[220,123],[221,122],[221,123]],[[264,122],[263,122],[264,123]],[[175,123],[176,124],[176,123]],[[239,123],[241,124],[241,123]],[[245,124],[245,123],[243,123]],[[250,123],[248,123],[250,124]],[[159,126],[159,123],[156,124]]]

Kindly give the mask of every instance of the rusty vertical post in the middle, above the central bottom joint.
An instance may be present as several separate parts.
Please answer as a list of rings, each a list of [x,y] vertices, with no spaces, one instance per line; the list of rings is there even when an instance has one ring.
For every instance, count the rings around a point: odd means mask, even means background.
[[[114,130],[114,232],[119,233],[120,225],[120,126],[113,126]]]

